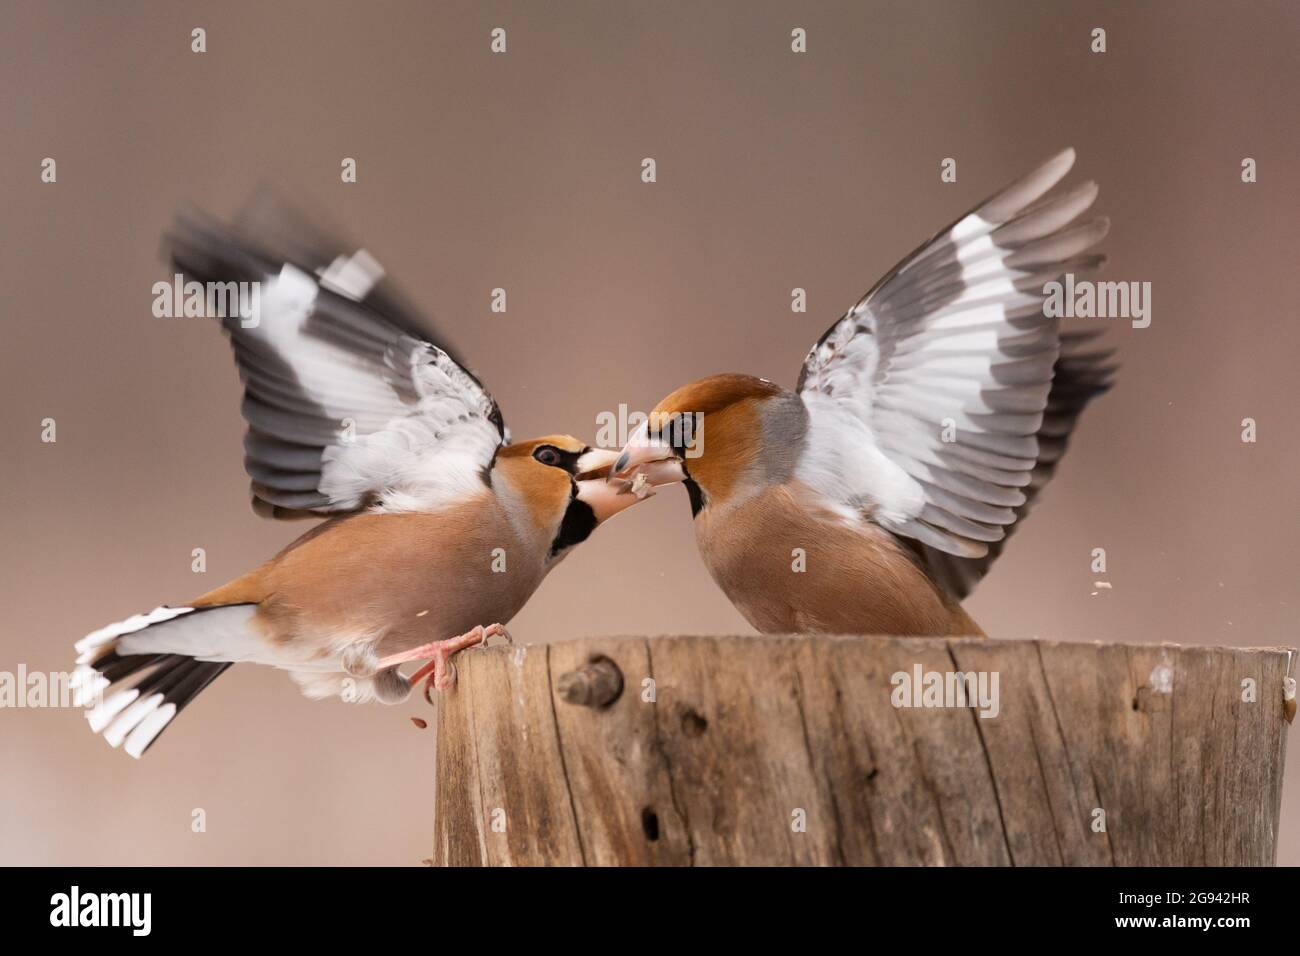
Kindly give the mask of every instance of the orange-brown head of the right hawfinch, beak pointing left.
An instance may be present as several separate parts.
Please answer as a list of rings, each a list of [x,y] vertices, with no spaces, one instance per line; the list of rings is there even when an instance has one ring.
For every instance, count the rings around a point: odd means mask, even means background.
[[[684,481],[690,509],[725,501],[768,475],[772,412],[797,398],[750,375],[714,375],[668,394],[628,440],[611,480],[644,473],[651,485]],[[798,410],[794,410],[796,412]]]

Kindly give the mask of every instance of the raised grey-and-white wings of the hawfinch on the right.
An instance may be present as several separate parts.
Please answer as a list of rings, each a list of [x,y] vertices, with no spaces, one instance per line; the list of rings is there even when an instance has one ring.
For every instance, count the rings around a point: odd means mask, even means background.
[[[1075,224],[1095,183],[1044,198],[1072,164],[1066,150],[904,259],[827,330],[800,375],[811,423],[805,479],[913,538],[954,592],[983,574],[1083,403],[1108,384],[1110,369],[1088,358],[1049,403],[1066,359],[1044,286],[1100,265],[1088,250],[1109,228]]]

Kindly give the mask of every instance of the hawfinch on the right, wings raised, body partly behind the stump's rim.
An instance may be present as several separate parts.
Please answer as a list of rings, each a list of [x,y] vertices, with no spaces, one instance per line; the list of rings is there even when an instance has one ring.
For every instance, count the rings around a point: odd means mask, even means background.
[[[1034,503],[1110,352],[1044,310],[1101,264],[1067,150],[896,265],[809,352],[794,392],[685,385],[614,475],[684,473],[714,580],[763,632],[982,635],[961,607]],[[656,481],[656,483],[658,483]]]

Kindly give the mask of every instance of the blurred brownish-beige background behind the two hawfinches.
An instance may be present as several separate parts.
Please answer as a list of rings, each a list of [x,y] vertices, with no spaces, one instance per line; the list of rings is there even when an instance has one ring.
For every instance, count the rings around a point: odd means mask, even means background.
[[[701,375],[793,385],[898,258],[1067,144],[1114,220],[1108,277],[1150,281],[1154,317],[1108,323],[1119,385],[971,610],[1000,637],[1297,643],[1295,4],[3,0],[0,17],[0,670],[68,669],[87,631],[303,529],[248,509],[222,337],[151,315],[182,202],[229,216],[263,181],[315,196],[516,434],[590,437],[599,411]],[[1093,548],[1113,583],[1096,596]],[[511,630],[749,628],[672,489],[578,549]],[[417,864],[434,728],[410,715],[432,710],[311,702],[237,667],[136,763],[79,713],[0,710],[0,862]]]

